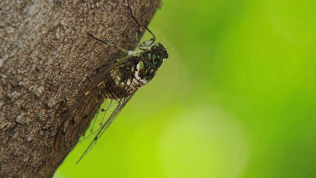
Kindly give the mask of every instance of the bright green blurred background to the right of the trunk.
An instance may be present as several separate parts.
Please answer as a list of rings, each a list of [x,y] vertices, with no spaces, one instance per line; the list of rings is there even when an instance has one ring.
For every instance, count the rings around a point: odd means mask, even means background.
[[[55,178],[316,177],[316,0],[163,0],[150,29],[169,58]]]

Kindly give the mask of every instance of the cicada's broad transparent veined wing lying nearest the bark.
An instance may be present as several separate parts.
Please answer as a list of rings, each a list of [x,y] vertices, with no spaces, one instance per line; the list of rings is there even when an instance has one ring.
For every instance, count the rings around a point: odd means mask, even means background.
[[[54,144],[57,152],[71,150],[93,134],[101,130],[104,132],[110,126],[126,101],[137,90],[126,94],[129,92],[126,89],[126,81],[134,75],[133,57],[126,56],[110,66],[80,96],[58,130]],[[119,87],[116,79],[119,84],[124,83],[124,86]]]

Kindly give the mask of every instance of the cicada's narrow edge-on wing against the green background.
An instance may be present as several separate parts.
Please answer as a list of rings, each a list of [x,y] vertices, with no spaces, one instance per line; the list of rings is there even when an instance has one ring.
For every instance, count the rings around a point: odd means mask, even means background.
[[[137,89],[129,96],[123,98],[120,102],[119,105],[116,107],[115,111],[113,111],[111,117],[106,121],[105,125],[102,127],[101,131],[94,137],[94,139],[91,141],[87,149],[84,151],[84,153],[81,155],[80,159],[78,160],[77,163],[85,156],[87,155],[92,147],[98,142],[100,137],[104,134],[104,132],[109,128],[109,126],[112,124],[112,122],[115,120],[115,118],[118,116],[119,112],[123,109],[123,107],[127,104],[127,102],[132,98],[132,96],[135,94]]]

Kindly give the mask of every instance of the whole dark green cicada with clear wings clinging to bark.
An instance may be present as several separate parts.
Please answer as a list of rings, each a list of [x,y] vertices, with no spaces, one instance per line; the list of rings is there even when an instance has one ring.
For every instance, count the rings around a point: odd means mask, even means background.
[[[126,50],[88,34],[93,39],[115,47],[127,55],[106,66],[105,72],[89,85],[68,111],[58,130],[54,144],[58,152],[69,151],[96,134],[79,161],[109,128],[135,92],[155,77],[162,61],[168,58],[166,49],[160,43],[155,43],[156,37],[147,26],[145,29],[153,37],[143,43],[140,42],[144,29],[133,16],[131,8],[128,8],[139,27],[135,35],[135,45],[140,50]]]

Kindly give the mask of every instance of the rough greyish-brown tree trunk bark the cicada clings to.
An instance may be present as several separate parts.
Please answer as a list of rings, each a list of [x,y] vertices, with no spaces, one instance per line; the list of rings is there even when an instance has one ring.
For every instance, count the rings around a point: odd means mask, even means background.
[[[0,177],[52,177],[58,127],[96,69],[124,54],[159,0],[0,1]]]

